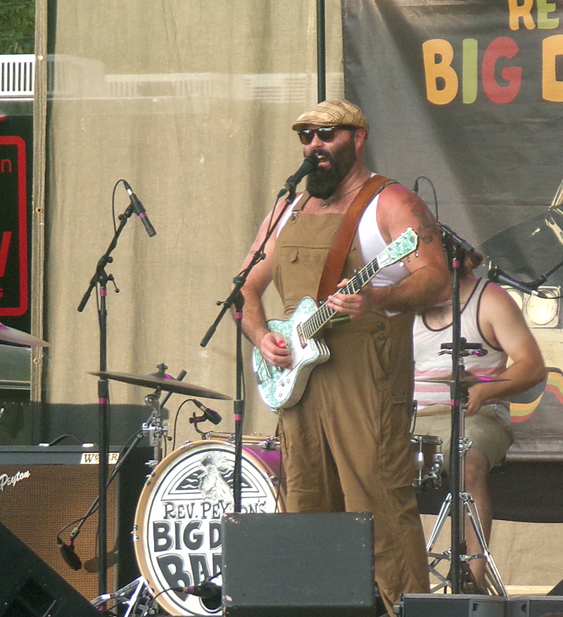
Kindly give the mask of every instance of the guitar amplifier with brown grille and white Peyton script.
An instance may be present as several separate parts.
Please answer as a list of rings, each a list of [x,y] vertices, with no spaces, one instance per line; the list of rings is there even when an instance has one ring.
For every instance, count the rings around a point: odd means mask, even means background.
[[[110,452],[110,471],[117,454]],[[89,600],[99,594],[97,514],[75,539],[82,561],[78,571],[63,560],[57,533],[84,516],[96,499],[97,457],[89,448],[73,446],[0,447],[0,522]],[[108,490],[108,591],[139,576],[131,532],[151,457],[150,448],[133,450]],[[73,528],[61,533],[63,541]]]

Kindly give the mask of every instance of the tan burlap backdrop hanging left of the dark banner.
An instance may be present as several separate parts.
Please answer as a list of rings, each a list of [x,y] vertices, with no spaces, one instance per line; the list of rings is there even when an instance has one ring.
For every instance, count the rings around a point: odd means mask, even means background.
[[[302,160],[292,120],[317,101],[314,0],[58,0],[49,6],[46,402],[96,402],[96,298],[77,312],[113,237],[112,191],[127,179],[158,232],[132,217],[113,251],[108,370],[173,376],[234,397],[227,315],[200,346],[258,225]],[[327,2],[327,96],[341,96],[341,23]],[[122,184],[115,210],[129,200]],[[276,311],[270,293],[269,310]],[[245,344],[245,432],[271,434]],[[116,404],[148,390],[110,383]],[[182,397],[170,399],[175,409]],[[210,405],[211,401],[207,403]],[[213,404],[233,427],[232,403]],[[179,439],[194,438],[179,420]]]

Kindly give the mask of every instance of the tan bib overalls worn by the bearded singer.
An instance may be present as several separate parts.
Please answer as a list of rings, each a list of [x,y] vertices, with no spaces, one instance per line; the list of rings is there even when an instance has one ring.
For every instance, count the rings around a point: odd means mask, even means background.
[[[292,215],[273,256],[286,316],[315,298],[343,215]],[[292,220],[293,219],[293,220]],[[345,275],[362,267],[355,238]],[[301,400],[279,415],[291,512],[374,515],[375,573],[390,614],[400,593],[429,592],[424,534],[412,491],[412,314],[370,313],[327,329],[331,357],[312,370]]]

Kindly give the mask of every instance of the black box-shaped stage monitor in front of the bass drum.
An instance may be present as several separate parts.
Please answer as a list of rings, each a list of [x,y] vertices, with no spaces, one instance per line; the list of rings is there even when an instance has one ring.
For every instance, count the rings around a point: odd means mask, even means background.
[[[225,616],[377,614],[371,514],[226,514]]]

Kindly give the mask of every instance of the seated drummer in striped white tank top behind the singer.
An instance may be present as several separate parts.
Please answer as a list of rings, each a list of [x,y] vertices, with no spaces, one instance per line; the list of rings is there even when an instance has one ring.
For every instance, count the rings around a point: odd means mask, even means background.
[[[452,262],[452,242],[443,238],[448,262]],[[474,498],[486,541],[491,537],[491,503],[487,474],[505,457],[512,444],[510,428],[511,395],[524,392],[545,377],[545,366],[536,340],[521,310],[500,286],[474,276],[483,255],[461,250],[460,303],[461,336],[467,343],[481,343],[485,355],[464,357],[466,371],[489,379],[470,385],[465,408],[465,435],[472,441],[465,458],[465,490]],[[452,372],[450,354],[438,355],[442,343],[452,343],[452,303],[444,303],[417,315],[414,325],[415,400],[418,415],[415,432],[443,439],[445,469],[450,453],[450,384],[420,379],[446,376]],[[507,361],[511,361],[507,368]],[[481,554],[474,530],[465,525],[467,554]],[[485,592],[485,559],[469,562],[477,592]],[[467,590],[469,591],[469,590]]]

